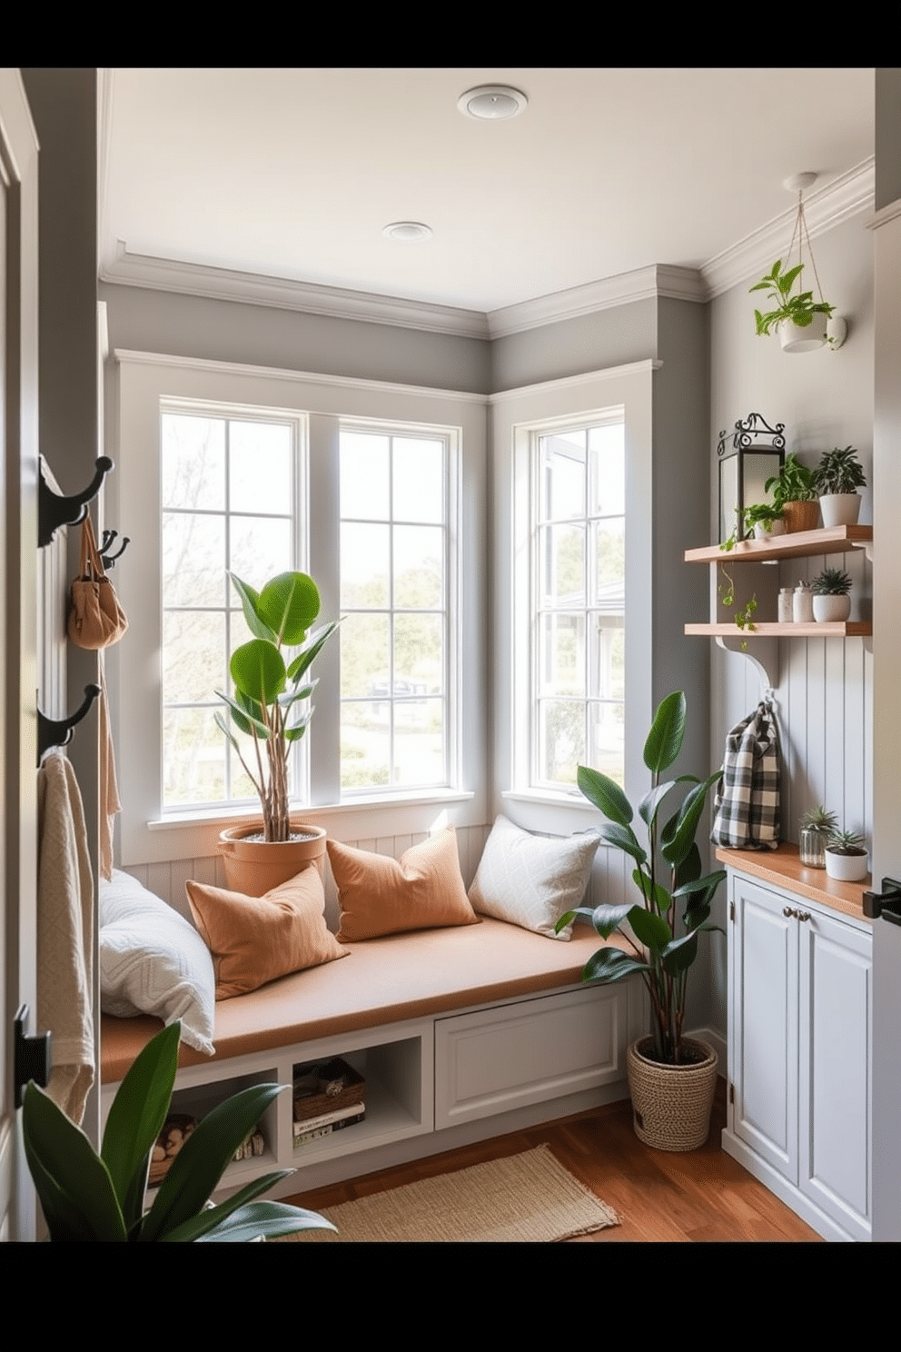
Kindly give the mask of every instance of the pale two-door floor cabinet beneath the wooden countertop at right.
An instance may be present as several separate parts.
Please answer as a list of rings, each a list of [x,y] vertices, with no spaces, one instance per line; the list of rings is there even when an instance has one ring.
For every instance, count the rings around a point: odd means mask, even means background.
[[[820,1234],[870,1238],[870,923],[729,871],[723,1148]]]

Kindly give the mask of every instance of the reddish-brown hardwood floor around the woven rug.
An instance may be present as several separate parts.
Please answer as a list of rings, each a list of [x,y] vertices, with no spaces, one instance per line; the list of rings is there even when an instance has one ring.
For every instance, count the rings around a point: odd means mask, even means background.
[[[708,1142],[686,1155],[642,1145],[632,1132],[631,1105],[625,1099],[286,1201],[317,1210],[528,1151],[546,1141],[558,1160],[621,1217],[621,1225],[571,1240],[573,1244],[820,1241],[809,1225],[723,1152],[720,1130],[724,1125],[725,1082],[720,1078]]]

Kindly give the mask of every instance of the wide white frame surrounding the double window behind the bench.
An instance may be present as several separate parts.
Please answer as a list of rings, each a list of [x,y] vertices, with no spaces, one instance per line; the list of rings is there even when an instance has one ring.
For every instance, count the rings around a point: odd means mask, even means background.
[[[417,389],[378,381],[315,376],[228,362],[118,352],[107,381],[109,450],[116,473],[107,485],[107,519],[130,535],[116,571],[118,594],[130,621],[122,644],[107,654],[116,768],[123,811],[118,818],[118,861],[123,865],[216,853],[219,830],[235,819],[258,815],[217,806],[200,811],[161,810],[161,560],[159,560],[159,416],[161,403],[207,403],[246,416],[261,411],[304,416],[308,427],[309,512],[307,566],[321,594],[323,619],[338,604],[338,438],[340,420],[421,431],[448,431],[457,452],[448,484],[448,572],[454,614],[466,633],[448,644],[448,787],[378,792],[342,802],[339,756],[309,757],[309,799],[304,815],[338,836],[340,821],[354,817],[355,840],[411,837],[443,823],[481,825],[489,783],[488,690],[484,656],[488,633],[486,581],[486,415],[485,396]],[[113,483],[115,480],[115,483]],[[453,507],[451,507],[453,499]],[[338,645],[327,645],[316,662],[316,714],[311,733],[339,737]]]

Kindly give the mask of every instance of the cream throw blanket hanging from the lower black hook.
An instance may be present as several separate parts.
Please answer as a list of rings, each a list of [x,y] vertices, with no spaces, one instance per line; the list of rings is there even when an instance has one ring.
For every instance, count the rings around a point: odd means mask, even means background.
[[[47,1094],[81,1125],[95,1076],[93,876],[76,772],[59,752],[38,771],[38,1026],[50,1029]]]

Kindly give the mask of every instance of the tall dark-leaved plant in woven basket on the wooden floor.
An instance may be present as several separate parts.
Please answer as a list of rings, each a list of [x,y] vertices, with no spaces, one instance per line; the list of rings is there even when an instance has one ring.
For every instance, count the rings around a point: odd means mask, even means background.
[[[585,915],[602,940],[617,933],[631,949],[600,948],[588,960],[582,980],[619,982],[639,973],[644,982],[652,1032],[629,1046],[627,1075],[635,1134],[662,1151],[692,1151],[706,1141],[717,1067],[713,1048],[682,1033],[688,973],[698,953],[698,934],[720,929],[709,923],[709,915],[725,877],[723,869],[702,873],[694,840],[706,795],[721,771],[702,781],[694,775],[661,780],[682,748],[685,711],[682,691],[667,695],[644,744],[644,764],[651,771],[651,787],[638,804],[644,844],[632,829],[636,810],[619,784],[600,771],[578,767],[580,790],[609,823],[601,826],[601,844],[635,861],[632,880],[639,898],[604,902],[593,910],[580,907],[557,925],[559,932],[575,915]],[[692,788],[679,807],[661,821],[663,803],[681,784]]]

